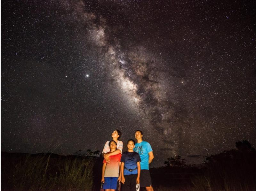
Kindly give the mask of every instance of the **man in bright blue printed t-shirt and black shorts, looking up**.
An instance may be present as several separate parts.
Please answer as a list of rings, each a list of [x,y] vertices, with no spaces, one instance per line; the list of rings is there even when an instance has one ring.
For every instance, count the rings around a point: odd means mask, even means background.
[[[154,155],[150,144],[147,141],[142,141],[143,133],[140,130],[135,132],[137,143],[134,151],[140,155],[140,187],[146,187],[147,191],[153,191],[151,177],[148,164],[152,162]]]

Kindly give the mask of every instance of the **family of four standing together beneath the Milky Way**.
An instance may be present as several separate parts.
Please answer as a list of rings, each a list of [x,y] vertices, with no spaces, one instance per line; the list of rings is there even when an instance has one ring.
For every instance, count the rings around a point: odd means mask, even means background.
[[[149,163],[154,155],[151,145],[143,141],[143,133],[135,131],[135,139],[127,141],[127,151],[123,153],[122,133],[114,130],[112,140],[105,143],[102,151],[104,157],[102,166],[102,188],[105,191],[115,191],[117,183],[122,183],[122,191],[136,191],[139,187],[146,187],[153,191],[149,173]]]

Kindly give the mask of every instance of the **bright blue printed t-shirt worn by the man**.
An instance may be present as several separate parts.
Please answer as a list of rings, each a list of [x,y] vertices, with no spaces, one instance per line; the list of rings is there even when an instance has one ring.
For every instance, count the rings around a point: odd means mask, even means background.
[[[140,155],[140,169],[141,170],[149,170],[148,168],[148,153],[153,151],[150,144],[147,141],[142,141],[140,143],[136,143],[133,149],[135,152]]]

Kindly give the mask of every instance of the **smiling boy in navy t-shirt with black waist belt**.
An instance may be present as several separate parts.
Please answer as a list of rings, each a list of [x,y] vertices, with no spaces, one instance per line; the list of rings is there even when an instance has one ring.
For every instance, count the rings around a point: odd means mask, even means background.
[[[127,141],[128,151],[121,157],[122,191],[135,191],[140,183],[140,155],[133,151],[135,141]]]

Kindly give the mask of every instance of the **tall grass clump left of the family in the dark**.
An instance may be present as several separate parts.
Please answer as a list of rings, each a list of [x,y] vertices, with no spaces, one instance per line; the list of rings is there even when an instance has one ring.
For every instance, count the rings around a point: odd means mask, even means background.
[[[57,160],[51,156],[23,156],[8,178],[11,190],[92,189],[92,158]]]

